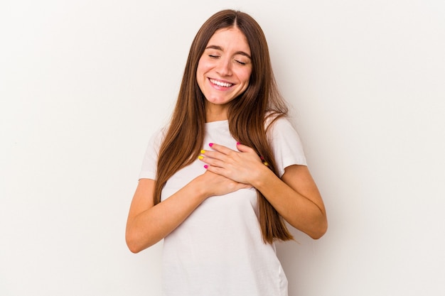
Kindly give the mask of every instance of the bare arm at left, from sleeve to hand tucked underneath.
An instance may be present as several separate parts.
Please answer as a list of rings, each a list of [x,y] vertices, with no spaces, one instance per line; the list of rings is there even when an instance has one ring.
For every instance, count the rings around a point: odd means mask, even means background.
[[[206,198],[249,187],[207,171],[154,206],[154,185],[154,180],[141,179],[134,192],[125,232],[127,246],[133,253],[161,241]]]

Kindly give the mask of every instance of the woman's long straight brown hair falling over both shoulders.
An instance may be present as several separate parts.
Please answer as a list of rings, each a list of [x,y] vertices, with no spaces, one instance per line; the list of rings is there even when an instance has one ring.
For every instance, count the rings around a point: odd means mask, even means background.
[[[262,155],[277,175],[265,122],[285,116],[287,107],[274,79],[267,41],[257,21],[247,13],[224,10],[205,21],[191,45],[171,124],[159,150],[154,204],[161,202],[161,190],[167,180],[193,163],[200,153],[204,141],[205,97],[198,87],[196,70],[205,46],[215,31],[231,27],[239,28],[247,38],[252,56],[252,74],[245,92],[230,102],[227,111],[230,133],[235,140]],[[282,216],[258,190],[257,195],[264,242],[293,239]]]

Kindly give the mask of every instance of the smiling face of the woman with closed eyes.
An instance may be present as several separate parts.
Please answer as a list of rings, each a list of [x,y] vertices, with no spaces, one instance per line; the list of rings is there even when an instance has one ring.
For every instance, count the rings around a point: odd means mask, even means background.
[[[215,32],[200,57],[196,79],[208,106],[226,104],[249,86],[252,73],[250,47],[238,28]]]

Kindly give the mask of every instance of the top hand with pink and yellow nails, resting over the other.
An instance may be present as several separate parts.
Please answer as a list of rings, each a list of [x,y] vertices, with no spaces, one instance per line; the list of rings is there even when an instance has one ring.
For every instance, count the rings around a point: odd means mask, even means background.
[[[212,143],[213,150],[202,150],[200,160],[207,163],[207,170],[227,177],[235,182],[252,186],[252,180],[257,178],[266,165],[250,147],[237,144],[238,151]]]

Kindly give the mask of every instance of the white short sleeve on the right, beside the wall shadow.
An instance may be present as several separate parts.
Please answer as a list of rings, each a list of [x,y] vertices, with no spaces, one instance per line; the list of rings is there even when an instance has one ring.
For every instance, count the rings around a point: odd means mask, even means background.
[[[280,117],[269,126],[267,137],[274,151],[279,177],[290,165],[307,165],[299,134],[285,117]]]

